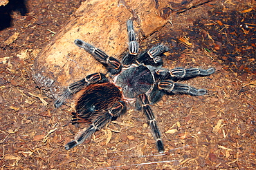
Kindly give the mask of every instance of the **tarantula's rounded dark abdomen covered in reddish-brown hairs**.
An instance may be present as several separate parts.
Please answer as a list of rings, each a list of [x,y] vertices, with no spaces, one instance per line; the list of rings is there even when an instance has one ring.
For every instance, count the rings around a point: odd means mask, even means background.
[[[91,84],[85,87],[75,106],[76,116],[91,122],[122,99],[122,94],[113,83]]]

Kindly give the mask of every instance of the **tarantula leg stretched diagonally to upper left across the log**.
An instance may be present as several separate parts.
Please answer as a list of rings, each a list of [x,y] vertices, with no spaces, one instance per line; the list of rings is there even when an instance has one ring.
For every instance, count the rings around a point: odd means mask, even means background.
[[[78,47],[84,48],[86,52],[89,52],[93,57],[102,63],[105,67],[107,67],[107,70],[112,74],[116,75],[121,72],[122,70],[122,65],[121,63],[113,58],[112,56],[108,56],[106,53],[102,52],[102,50],[93,47],[93,45],[89,43],[85,43],[84,41],[80,39],[75,40],[75,45]]]

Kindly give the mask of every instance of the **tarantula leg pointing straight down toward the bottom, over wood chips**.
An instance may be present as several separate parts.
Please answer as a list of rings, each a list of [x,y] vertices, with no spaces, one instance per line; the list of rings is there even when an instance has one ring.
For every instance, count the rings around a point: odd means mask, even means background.
[[[138,103],[141,105],[143,109],[143,114],[145,114],[147,121],[149,123],[149,127],[152,130],[152,134],[154,136],[154,139],[156,140],[157,149],[159,153],[163,153],[164,146],[163,146],[163,141],[161,139],[161,132],[156,123],[156,118],[154,116],[152,108],[149,106],[149,100],[146,94],[138,95]]]

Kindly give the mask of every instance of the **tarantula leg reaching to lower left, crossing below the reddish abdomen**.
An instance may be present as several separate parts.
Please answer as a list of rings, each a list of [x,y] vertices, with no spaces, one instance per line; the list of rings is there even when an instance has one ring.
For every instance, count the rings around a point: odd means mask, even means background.
[[[84,142],[84,140],[86,140],[86,138],[90,138],[95,131],[102,129],[102,127],[107,125],[107,123],[110,123],[113,118],[118,118],[122,114],[125,114],[125,111],[125,102],[119,101],[114,103],[113,107],[111,107],[109,111],[106,111],[102,116],[96,118],[95,121],[89,126],[89,128],[77,136],[75,140],[68,142],[65,145],[65,149],[72,149],[73,147],[80,145],[82,142]]]

